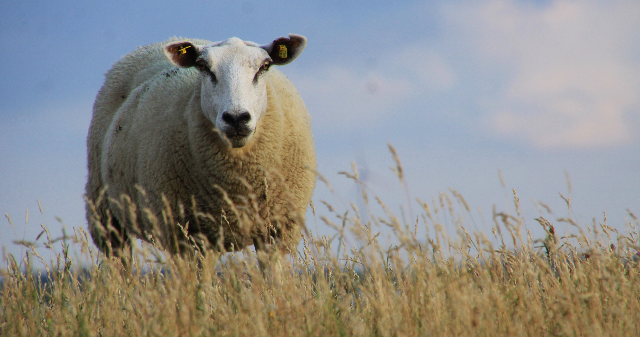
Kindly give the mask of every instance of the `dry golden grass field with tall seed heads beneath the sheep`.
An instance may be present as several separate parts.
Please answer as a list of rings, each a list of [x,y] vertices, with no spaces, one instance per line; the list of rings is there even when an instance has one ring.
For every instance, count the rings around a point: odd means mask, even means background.
[[[396,173],[402,181],[399,161]],[[547,235],[534,240],[517,196],[513,214],[494,212],[493,233],[467,231],[456,192],[420,202],[414,223],[363,197],[367,210],[326,205],[337,221],[321,219],[336,234],[307,233],[300,251],[260,255],[264,270],[248,249],[183,258],[149,244],[124,268],[95,253],[83,229],[58,241],[45,232],[40,245],[64,247],[53,261],[33,249],[5,257],[0,336],[640,336],[631,212],[625,235],[539,217]],[[579,234],[556,233],[558,221]],[[35,260],[44,267],[33,270]]]

